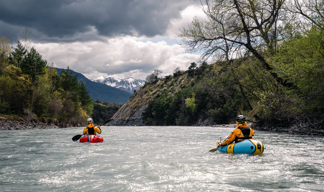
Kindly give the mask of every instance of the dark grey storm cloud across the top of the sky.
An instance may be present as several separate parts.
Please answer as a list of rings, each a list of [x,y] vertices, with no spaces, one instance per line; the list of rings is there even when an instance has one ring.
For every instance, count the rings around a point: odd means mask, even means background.
[[[17,40],[24,28],[34,42],[89,41],[100,36],[163,35],[189,0],[2,0],[0,36]],[[97,31],[99,36],[94,35]]]

